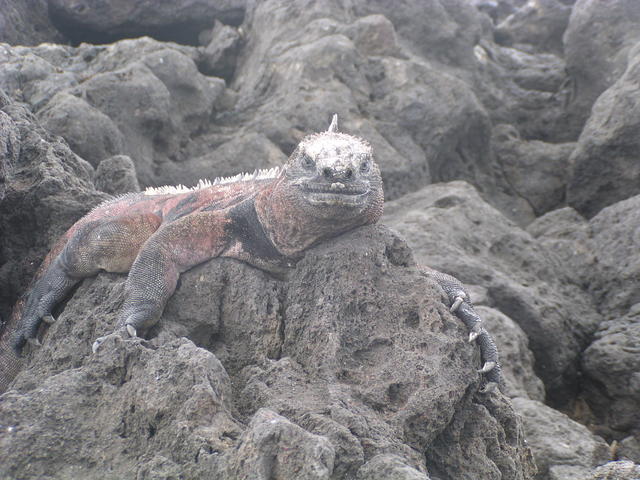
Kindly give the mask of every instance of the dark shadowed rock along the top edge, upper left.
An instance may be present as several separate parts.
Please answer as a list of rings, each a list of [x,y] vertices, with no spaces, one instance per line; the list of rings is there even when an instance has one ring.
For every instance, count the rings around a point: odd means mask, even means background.
[[[51,19],[72,41],[107,43],[151,35],[194,44],[216,19],[239,25],[244,0],[49,0]]]

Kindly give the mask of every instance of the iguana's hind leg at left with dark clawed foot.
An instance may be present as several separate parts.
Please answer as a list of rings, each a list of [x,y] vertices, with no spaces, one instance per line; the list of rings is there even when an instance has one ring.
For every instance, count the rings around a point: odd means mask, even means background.
[[[120,216],[79,225],[58,256],[31,288],[12,345],[19,351],[35,339],[44,320],[71,288],[100,270],[126,272],[140,246],[160,225],[154,214]],[[35,343],[35,342],[34,342]]]

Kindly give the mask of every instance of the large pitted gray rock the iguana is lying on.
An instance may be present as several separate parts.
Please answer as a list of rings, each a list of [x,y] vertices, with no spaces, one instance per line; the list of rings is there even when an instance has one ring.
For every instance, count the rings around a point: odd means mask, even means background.
[[[0,475],[339,479],[392,453],[442,479],[531,478],[510,404],[477,393],[476,347],[384,227],[313,248],[286,281],[233,260],[196,267],[154,340],[114,335],[91,355],[122,299],[121,277],[84,282],[30,354],[0,402]],[[31,435],[37,460],[20,453]]]

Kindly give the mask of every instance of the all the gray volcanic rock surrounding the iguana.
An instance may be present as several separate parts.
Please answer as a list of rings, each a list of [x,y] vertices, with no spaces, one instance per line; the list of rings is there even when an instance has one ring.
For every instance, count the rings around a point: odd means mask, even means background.
[[[282,164],[338,113],[381,225],[85,280],[0,396],[1,479],[640,478],[636,0],[0,0],[0,316],[93,206]],[[46,42],[46,43],[43,43]],[[468,285],[504,393],[416,269]]]

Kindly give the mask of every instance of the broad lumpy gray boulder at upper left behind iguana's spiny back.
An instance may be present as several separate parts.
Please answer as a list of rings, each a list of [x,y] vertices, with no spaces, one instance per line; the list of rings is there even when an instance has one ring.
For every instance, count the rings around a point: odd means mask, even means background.
[[[208,142],[194,147],[190,139],[209,128],[224,91],[223,80],[198,71],[199,55],[149,38],[6,47],[0,88],[28,103],[46,128],[94,166],[126,154],[143,186],[193,184],[215,173],[215,166],[184,162],[211,150]]]

